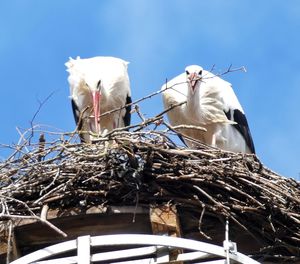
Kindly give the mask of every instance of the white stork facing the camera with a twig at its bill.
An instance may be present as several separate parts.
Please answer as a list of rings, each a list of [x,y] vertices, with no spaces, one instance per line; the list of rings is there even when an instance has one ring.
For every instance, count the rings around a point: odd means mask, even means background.
[[[255,153],[248,122],[231,84],[198,65],[162,86],[165,108],[186,101],[168,112],[172,126],[190,125],[206,129],[179,131],[208,145],[233,152]],[[196,144],[188,139],[189,147]]]

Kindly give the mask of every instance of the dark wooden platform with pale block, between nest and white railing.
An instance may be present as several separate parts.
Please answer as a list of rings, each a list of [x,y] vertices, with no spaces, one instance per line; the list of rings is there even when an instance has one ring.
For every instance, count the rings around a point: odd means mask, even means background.
[[[195,215],[186,208],[175,208],[168,205],[93,207],[86,211],[78,209],[49,210],[46,212],[46,216],[47,220],[65,232],[67,237],[62,237],[41,222],[22,221],[14,230],[12,259],[83,235],[164,234],[220,246],[225,238],[225,224],[222,224],[222,219],[207,216],[201,219],[200,213]],[[257,241],[234,225],[231,225],[230,240],[237,242],[238,251],[244,254],[259,249]],[[0,263],[4,263],[7,245],[2,243],[1,250]]]

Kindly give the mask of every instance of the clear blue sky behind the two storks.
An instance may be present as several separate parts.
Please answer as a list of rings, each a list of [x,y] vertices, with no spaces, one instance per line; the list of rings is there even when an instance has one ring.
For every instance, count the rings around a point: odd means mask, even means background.
[[[160,89],[189,64],[230,73],[257,155],[299,180],[300,1],[3,0],[0,2],[0,143],[35,123],[74,129],[64,63],[110,55],[130,61],[133,99]],[[141,105],[162,110],[157,96]],[[137,119],[136,119],[137,120]],[[0,157],[7,153],[0,148]]]

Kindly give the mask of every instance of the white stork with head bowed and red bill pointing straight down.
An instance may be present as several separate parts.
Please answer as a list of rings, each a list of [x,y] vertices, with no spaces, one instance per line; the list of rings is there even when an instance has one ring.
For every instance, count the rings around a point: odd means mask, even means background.
[[[130,124],[131,106],[100,117],[131,103],[128,62],[114,57],[77,57],[65,65],[81,141],[92,142],[97,135]]]

